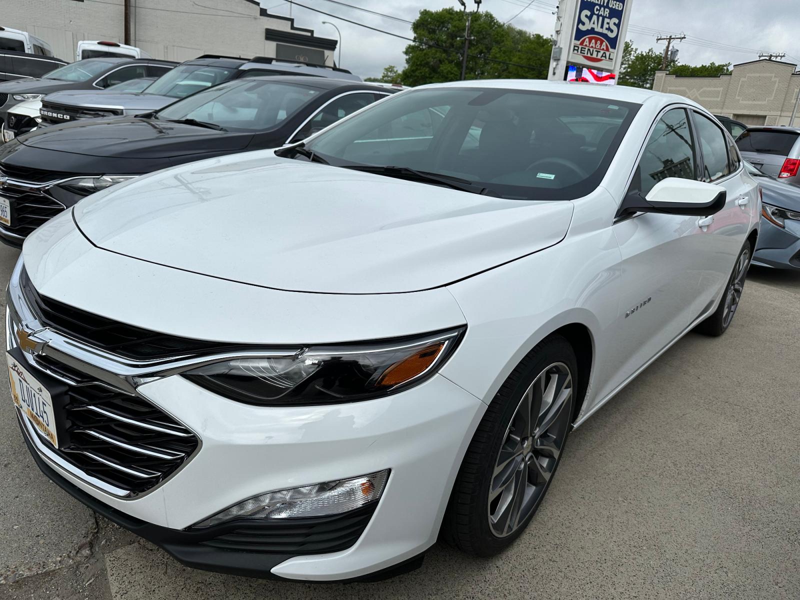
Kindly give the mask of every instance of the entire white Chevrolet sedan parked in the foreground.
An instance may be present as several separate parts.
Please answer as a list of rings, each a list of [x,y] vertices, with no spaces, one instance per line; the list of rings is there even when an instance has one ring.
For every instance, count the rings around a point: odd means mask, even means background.
[[[36,230],[8,293],[22,434],[190,566],[380,578],[440,534],[494,554],[574,426],[687,331],[730,326],[759,203],[686,98],[403,91]]]

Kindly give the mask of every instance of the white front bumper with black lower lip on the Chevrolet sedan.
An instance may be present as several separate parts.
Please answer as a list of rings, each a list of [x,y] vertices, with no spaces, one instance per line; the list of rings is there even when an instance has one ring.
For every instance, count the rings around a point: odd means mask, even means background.
[[[12,316],[6,330],[10,347],[18,322],[15,302],[20,302],[14,285],[12,278]],[[48,344],[42,353],[58,359],[58,348],[51,346],[56,344]],[[72,368],[90,360],[79,353],[72,358]],[[83,371],[97,374],[97,369],[97,362],[86,362]],[[396,568],[417,564],[438,536],[458,466],[486,408],[441,375],[401,394],[338,406],[246,406],[179,375],[142,383],[135,394],[177,419],[202,442],[166,481],[134,497],[114,495],[38,449],[35,432],[29,431],[27,441],[42,470],[87,506],[186,565],[305,581],[394,574]],[[292,554],[269,548],[220,549],[205,543],[219,533],[217,528],[192,529],[227,506],[266,491],[385,469],[390,478],[382,497],[370,507],[358,539],[342,550]]]

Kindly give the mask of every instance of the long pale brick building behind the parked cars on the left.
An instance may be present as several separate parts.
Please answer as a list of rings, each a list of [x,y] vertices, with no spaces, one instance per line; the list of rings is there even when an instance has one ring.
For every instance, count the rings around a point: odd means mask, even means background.
[[[2,0],[0,26],[28,31],[75,60],[79,40],[123,42],[122,0]],[[337,40],[270,14],[258,0],[130,0],[130,43],[153,58],[269,56],[334,64]]]

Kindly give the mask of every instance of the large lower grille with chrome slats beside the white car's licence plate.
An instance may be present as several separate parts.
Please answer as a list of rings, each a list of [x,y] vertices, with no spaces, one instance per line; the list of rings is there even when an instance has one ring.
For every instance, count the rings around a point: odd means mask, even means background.
[[[144,398],[93,381],[43,354],[34,357],[34,366],[67,384],[61,409],[66,438],[59,438],[61,447],[54,451],[91,477],[141,494],[197,449],[198,438],[190,430]]]

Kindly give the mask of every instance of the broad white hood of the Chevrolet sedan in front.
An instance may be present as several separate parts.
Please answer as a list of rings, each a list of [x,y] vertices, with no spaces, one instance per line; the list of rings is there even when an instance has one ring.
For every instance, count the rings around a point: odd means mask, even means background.
[[[80,202],[74,218],[95,246],[180,270],[278,290],[386,294],[553,246],[572,212],[572,202],[489,198],[260,151],[120,184]]]

